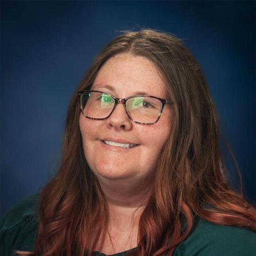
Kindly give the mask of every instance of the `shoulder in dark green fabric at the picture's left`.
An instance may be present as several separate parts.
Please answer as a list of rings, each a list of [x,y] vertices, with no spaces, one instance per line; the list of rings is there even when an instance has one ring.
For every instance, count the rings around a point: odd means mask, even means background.
[[[0,219],[0,255],[16,250],[30,251],[39,223],[39,194],[15,204]]]

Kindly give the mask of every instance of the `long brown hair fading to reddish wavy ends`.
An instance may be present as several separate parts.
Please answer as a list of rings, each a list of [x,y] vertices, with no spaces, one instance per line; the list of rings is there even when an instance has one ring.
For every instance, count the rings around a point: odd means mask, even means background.
[[[107,227],[107,203],[83,153],[77,92],[90,88],[103,63],[119,53],[153,61],[175,102],[172,131],[156,165],[152,195],[140,217],[138,247],[130,255],[172,255],[189,235],[194,215],[256,230],[256,210],[245,201],[243,191],[229,188],[218,147],[218,116],[200,66],[180,39],[142,29],[125,31],[104,47],[74,92],[61,165],[40,193],[35,247],[26,254],[92,255],[101,230]],[[96,236],[91,236],[93,230]]]

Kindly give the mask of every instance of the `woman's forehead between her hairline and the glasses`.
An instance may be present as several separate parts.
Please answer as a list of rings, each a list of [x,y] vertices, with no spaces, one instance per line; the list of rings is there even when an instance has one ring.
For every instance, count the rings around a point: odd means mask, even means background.
[[[92,89],[117,97],[145,94],[167,97],[167,87],[152,61],[131,54],[117,54],[99,70]]]

